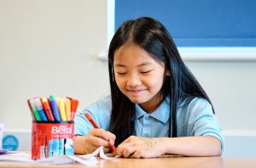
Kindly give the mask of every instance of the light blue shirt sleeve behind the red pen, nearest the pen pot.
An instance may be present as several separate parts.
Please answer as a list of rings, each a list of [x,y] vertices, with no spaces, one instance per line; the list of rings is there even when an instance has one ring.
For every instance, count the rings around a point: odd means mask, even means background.
[[[110,98],[104,98],[94,104],[90,104],[83,111],[77,113],[74,118],[74,133],[79,135],[87,135],[93,129],[89,120],[84,114],[90,113],[91,117],[96,123],[104,130],[109,130],[110,114],[111,114],[111,101]]]

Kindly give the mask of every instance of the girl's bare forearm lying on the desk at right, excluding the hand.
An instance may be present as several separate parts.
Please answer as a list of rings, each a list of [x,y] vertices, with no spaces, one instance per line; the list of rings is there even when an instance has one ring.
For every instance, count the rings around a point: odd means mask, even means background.
[[[216,137],[159,137],[160,148],[164,154],[185,156],[219,156],[221,143]]]

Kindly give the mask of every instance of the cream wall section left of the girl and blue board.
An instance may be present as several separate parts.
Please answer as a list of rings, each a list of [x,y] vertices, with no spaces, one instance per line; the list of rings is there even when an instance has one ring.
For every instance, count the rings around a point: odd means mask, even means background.
[[[26,99],[108,93],[105,0],[0,0],[0,122],[30,129]]]

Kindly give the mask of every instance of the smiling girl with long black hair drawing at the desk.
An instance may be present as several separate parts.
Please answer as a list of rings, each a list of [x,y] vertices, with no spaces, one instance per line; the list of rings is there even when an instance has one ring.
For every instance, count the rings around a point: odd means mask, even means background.
[[[143,17],[121,25],[110,43],[108,69],[111,96],[76,115],[76,154],[99,146],[108,152],[113,144],[113,154],[132,158],[222,153],[212,103],[159,21]],[[85,113],[102,129],[93,129]]]

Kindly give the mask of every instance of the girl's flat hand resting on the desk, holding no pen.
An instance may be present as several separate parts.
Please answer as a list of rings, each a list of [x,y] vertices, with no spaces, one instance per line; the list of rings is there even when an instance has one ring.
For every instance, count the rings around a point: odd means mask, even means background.
[[[117,155],[123,154],[125,158],[154,158],[165,154],[164,144],[160,144],[160,137],[128,137],[123,143],[120,143],[115,152]]]

